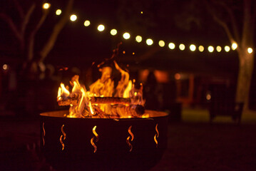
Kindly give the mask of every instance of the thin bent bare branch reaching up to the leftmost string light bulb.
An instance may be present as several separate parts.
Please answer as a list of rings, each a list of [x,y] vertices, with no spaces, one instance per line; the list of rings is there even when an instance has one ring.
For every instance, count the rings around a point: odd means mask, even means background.
[[[36,27],[33,31],[31,31],[28,39],[28,60],[31,61],[34,58],[34,39],[37,31],[39,31],[39,28],[41,28],[43,22],[46,20],[46,16],[48,16],[48,9],[43,11],[43,15],[41,16],[41,19],[39,20],[39,23],[36,24]]]

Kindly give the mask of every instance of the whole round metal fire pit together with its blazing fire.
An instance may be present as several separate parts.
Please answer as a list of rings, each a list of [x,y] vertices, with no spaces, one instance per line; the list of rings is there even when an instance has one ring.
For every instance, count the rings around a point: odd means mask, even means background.
[[[148,170],[163,155],[168,114],[145,110],[142,84],[135,86],[128,71],[113,65],[121,76],[117,86],[113,69],[98,65],[101,78],[89,90],[79,76],[71,79],[71,91],[61,83],[58,105],[69,110],[41,113],[41,147],[54,168]]]

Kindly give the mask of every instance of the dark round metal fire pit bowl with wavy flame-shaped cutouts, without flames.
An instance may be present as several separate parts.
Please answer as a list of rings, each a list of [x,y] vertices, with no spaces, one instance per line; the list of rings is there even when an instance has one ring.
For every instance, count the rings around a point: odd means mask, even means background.
[[[46,162],[56,170],[149,170],[167,147],[168,114],[145,113],[150,118],[66,118],[66,110],[41,113]]]

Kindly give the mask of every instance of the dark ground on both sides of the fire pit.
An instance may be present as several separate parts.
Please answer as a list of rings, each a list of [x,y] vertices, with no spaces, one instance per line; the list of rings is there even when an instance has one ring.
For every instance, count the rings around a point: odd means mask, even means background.
[[[168,125],[168,148],[158,170],[256,170],[256,113],[209,123],[208,110],[183,108]],[[0,118],[0,170],[53,170],[39,152],[39,119]]]

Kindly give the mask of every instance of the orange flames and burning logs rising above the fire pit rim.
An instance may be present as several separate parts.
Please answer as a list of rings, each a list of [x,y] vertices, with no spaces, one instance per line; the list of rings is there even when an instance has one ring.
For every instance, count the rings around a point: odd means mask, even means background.
[[[116,88],[111,79],[112,68],[100,68],[101,78],[89,86],[81,85],[79,76],[71,79],[72,90],[61,83],[58,88],[58,105],[70,105],[70,118],[147,118],[144,114],[143,86],[135,88],[135,80],[130,81],[129,73],[124,71],[116,61],[116,70],[121,73],[121,80]]]

